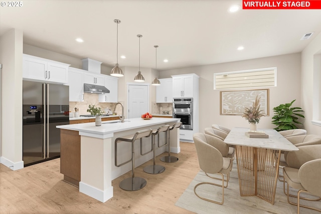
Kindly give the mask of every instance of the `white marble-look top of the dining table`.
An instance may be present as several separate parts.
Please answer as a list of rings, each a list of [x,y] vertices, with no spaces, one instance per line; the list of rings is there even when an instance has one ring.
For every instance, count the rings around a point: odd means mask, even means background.
[[[268,148],[284,151],[299,150],[295,145],[283,137],[274,129],[259,129],[269,135],[269,138],[249,138],[245,136],[248,128],[233,128],[225,138],[224,142],[231,145]]]

